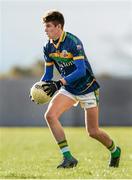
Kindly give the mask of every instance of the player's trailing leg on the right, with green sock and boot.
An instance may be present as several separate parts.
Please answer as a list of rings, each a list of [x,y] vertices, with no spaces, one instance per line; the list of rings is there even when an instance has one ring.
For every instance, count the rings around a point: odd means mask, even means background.
[[[111,151],[111,160],[109,166],[118,167],[120,159],[120,148],[116,147],[109,135],[99,128],[98,107],[85,110],[86,130],[90,137],[98,140]]]

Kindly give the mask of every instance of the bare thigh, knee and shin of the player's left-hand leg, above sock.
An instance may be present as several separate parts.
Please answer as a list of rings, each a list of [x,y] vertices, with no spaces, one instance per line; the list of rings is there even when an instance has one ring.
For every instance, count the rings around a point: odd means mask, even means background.
[[[63,94],[57,94],[50,102],[45,113],[45,119],[57,142],[65,139],[64,130],[59,122],[59,117],[63,112],[70,109],[74,103],[74,100],[69,97]]]

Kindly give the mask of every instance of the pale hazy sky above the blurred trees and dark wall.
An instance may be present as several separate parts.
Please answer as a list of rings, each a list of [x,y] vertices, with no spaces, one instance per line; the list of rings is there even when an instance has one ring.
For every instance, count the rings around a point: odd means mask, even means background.
[[[0,72],[43,59],[49,9],[64,14],[65,31],[81,39],[95,74],[132,76],[131,0],[1,0]]]

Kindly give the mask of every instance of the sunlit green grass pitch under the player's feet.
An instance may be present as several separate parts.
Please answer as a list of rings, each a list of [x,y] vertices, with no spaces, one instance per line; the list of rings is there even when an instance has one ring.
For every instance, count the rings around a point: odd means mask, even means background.
[[[11,179],[130,179],[132,128],[103,128],[120,144],[119,168],[109,168],[109,152],[91,139],[84,128],[65,128],[79,164],[56,169],[61,155],[48,128],[0,128],[0,178]]]

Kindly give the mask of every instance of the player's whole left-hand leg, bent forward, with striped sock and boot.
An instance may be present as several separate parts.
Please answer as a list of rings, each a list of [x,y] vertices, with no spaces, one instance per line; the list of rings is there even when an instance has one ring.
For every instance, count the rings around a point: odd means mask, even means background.
[[[77,165],[77,160],[71,155],[64,129],[59,122],[59,117],[62,113],[70,109],[74,103],[74,100],[71,98],[63,94],[57,94],[50,102],[45,113],[47,124],[64,156],[63,162],[57,168],[71,168]]]

